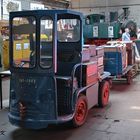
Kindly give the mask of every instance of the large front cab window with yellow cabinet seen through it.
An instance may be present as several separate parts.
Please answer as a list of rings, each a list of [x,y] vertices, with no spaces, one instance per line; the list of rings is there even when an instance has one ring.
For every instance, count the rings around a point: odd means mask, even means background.
[[[33,68],[36,58],[36,20],[34,17],[15,17],[12,26],[13,66]]]

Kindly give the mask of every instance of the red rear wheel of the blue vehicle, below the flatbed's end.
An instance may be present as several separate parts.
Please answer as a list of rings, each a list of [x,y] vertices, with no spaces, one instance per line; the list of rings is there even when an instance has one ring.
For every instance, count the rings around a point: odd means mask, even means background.
[[[109,101],[110,85],[108,81],[103,81],[99,85],[98,105],[104,107]]]

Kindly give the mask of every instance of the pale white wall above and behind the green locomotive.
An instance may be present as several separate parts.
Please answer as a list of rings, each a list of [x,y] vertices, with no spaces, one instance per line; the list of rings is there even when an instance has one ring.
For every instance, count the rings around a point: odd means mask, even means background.
[[[98,13],[109,16],[109,12],[123,12],[123,7],[129,7],[130,19],[140,26],[140,0],[72,0],[72,9],[82,12],[84,15]]]

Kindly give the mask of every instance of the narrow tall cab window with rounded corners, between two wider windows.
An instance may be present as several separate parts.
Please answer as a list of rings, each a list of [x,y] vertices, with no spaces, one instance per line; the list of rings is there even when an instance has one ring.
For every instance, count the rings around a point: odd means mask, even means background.
[[[50,68],[53,60],[53,21],[49,17],[42,17],[40,23],[40,65]]]

